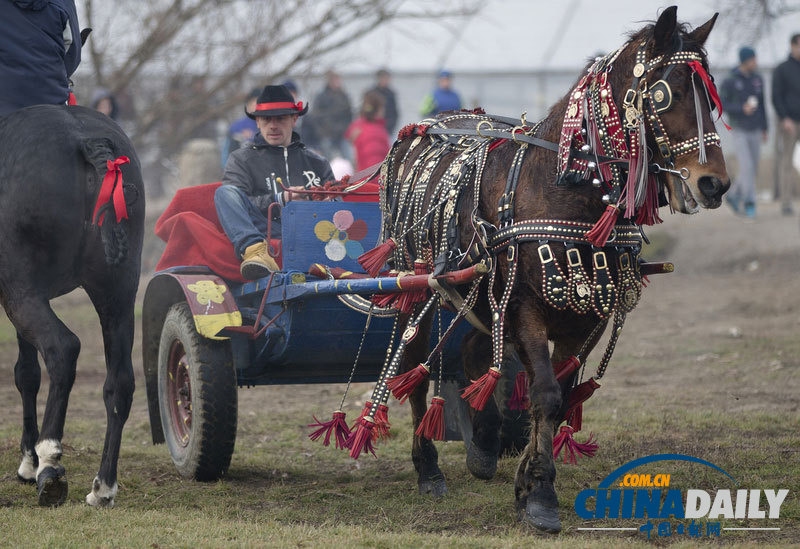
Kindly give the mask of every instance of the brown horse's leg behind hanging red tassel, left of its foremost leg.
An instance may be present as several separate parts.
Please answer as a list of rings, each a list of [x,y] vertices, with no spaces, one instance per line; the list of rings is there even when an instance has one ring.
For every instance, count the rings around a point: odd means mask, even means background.
[[[467,380],[479,379],[492,363],[491,338],[473,330],[461,344],[461,357]],[[472,441],[467,446],[467,469],[473,476],[489,480],[497,472],[503,416],[494,398],[490,398],[481,411],[470,406],[469,414],[472,419]]]

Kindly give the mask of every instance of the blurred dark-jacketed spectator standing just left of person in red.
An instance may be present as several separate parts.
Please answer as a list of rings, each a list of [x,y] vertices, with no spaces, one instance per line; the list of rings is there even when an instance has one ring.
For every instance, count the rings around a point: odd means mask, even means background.
[[[350,98],[342,89],[342,79],[337,73],[328,71],[325,79],[325,89],[315,98],[311,113],[314,132],[322,154],[328,158],[343,156],[349,159],[344,132],[353,119]]]

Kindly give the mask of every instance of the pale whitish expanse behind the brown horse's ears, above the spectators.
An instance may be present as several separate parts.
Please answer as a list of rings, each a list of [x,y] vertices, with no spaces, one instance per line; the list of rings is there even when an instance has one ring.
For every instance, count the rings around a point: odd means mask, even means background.
[[[455,34],[436,23],[396,22],[354,42],[344,54],[342,71],[482,69],[529,70],[582,65],[598,52],[616,49],[629,31],[657,18],[660,9],[678,5],[678,19],[696,27],[724,0],[489,0],[466,25],[451,24]],[[721,21],[718,21],[721,23]],[[789,37],[800,32],[800,13],[786,16],[754,46],[762,66],[788,54]],[[731,66],[744,45],[723,29],[711,34],[712,64]],[[741,34],[737,34],[741,36]]]

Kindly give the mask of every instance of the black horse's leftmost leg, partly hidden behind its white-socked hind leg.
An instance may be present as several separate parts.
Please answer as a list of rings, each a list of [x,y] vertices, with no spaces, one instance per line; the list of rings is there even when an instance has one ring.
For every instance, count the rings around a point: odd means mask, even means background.
[[[34,446],[39,438],[39,424],[36,418],[36,395],[42,382],[38,351],[17,334],[19,357],[14,365],[14,383],[22,397],[22,440],[20,451],[22,462],[17,469],[17,478],[26,483],[36,482],[36,468],[39,458]]]

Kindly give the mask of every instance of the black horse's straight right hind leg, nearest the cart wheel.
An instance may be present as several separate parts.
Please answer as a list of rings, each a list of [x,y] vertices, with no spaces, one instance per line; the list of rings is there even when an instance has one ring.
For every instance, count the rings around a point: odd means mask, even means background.
[[[95,303],[103,330],[106,359],[106,381],[103,401],[106,407],[106,438],[100,470],[92,482],[86,503],[93,507],[113,507],[117,495],[117,462],[122,443],[122,429],[128,419],[135,386],[131,351],[133,348],[133,300],[97,299],[98,294],[87,288]]]

